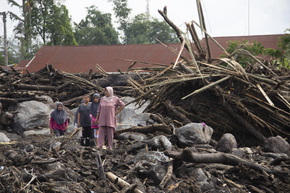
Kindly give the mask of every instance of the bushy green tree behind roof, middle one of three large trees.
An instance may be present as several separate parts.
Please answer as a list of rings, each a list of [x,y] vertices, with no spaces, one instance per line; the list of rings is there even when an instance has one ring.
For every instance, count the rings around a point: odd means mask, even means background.
[[[118,32],[111,22],[111,14],[93,5],[87,8],[85,20],[75,24],[74,37],[79,45],[118,44]]]

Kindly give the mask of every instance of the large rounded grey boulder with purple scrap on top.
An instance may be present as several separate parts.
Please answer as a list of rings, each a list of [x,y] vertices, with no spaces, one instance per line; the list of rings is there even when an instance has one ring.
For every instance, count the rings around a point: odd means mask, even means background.
[[[180,147],[192,147],[195,144],[209,144],[213,129],[206,125],[203,128],[201,123],[189,123],[180,127],[177,139]]]

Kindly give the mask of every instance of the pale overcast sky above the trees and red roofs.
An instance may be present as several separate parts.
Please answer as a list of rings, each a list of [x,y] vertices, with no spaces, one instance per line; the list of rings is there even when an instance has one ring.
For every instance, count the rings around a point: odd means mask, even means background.
[[[19,4],[22,2],[22,0],[15,1]],[[96,5],[100,11],[113,14],[113,6],[107,0],[66,0],[63,4],[69,10],[72,21],[76,23],[85,18],[85,7],[91,5]],[[290,28],[290,0],[201,0],[201,4],[207,31],[213,37],[247,36],[249,30],[250,35],[282,34],[286,28]],[[128,5],[132,8],[129,17],[146,11],[146,0],[128,0]],[[169,19],[183,32],[186,29],[184,22],[195,20],[199,23],[195,0],[150,0],[151,16],[163,20],[157,10],[163,10],[165,5]],[[11,8],[6,0],[0,0],[0,12],[3,11],[19,14],[16,7]],[[114,16],[112,20],[116,21]],[[8,17],[8,37],[12,35],[14,25],[15,23],[12,23]],[[117,27],[117,24],[114,23],[114,26]],[[3,21],[1,20],[0,36],[3,37],[3,35]],[[199,38],[201,39],[200,32]]]

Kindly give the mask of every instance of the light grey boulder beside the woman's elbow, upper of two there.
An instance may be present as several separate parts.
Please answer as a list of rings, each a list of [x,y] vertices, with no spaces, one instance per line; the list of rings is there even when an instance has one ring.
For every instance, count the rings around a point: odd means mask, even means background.
[[[121,101],[123,101],[125,104],[131,102],[134,100],[134,98],[130,96],[124,96],[120,98]],[[143,101],[141,101],[141,104],[143,104]],[[117,118],[119,119],[119,122],[124,122],[126,119],[128,119],[131,115],[140,114],[143,112],[143,110],[149,105],[149,102],[145,102],[140,108],[137,102],[131,103],[124,107],[123,110],[120,111],[120,113],[117,115]]]

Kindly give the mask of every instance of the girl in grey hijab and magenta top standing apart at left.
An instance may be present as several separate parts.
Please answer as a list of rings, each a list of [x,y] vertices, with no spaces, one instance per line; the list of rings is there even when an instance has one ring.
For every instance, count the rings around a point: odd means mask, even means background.
[[[56,137],[64,135],[68,128],[67,113],[63,110],[63,103],[56,103],[56,109],[50,114],[50,133]]]

